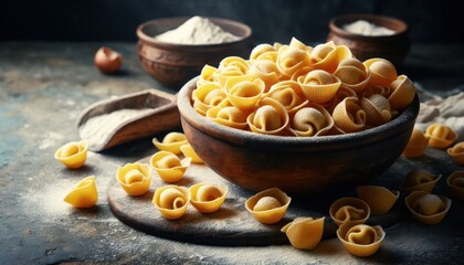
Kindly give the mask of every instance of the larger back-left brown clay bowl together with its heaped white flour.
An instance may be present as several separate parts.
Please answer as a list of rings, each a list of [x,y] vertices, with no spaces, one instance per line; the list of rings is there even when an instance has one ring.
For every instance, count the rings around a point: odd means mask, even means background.
[[[205,64],[217,66],[226,56],[247,56],[251,51],[252,30],[246,24],[218,18],[191,19],[164,18],[137,28],[141,67],[177,89],[199,75]]]

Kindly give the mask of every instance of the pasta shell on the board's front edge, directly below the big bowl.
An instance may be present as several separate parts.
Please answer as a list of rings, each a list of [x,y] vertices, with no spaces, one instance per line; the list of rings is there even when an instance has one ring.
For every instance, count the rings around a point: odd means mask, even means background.
[[[260,223],[274,224],[284,218],[291,201],[282,190],[272,188],[249,198],[245,208]]]

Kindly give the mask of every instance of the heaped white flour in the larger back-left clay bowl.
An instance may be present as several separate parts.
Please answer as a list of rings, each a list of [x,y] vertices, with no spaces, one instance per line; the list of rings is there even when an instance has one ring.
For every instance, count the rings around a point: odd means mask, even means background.
[[[209,19],[193,17],[179,28],[159,34],[155,39],[176,44],[200,45],[233,42],[239,40],[239,36],[224,31]]]

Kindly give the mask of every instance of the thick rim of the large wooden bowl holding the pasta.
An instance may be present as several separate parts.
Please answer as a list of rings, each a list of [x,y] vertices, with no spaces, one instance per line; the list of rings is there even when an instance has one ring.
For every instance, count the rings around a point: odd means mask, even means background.
[[[405,130],[411,130],[410,132],[412,132],[413,124],[415,123],[415,118],[419,114],[420,103],[418,94],[415,94],[412,103],[404,108],[398,117],[387,124],[362,131],[317,137],[261,135],[252,131],[230,128],[224,125],[217,124],[198,114],[191,104],[191,93],[194,87],[197,87],[198,78],[199,76],[187,82],[177,95],[178,108],[182,123],[187,121],[196,129],[208,132],[208,135],[219,140],[265,150],[275,151],[275,149],[278,148],[280,151],[310,150],[316,152],[320,150],[342,150],[367,146],[372,142],[379,142],[390,137],[394,137]]]

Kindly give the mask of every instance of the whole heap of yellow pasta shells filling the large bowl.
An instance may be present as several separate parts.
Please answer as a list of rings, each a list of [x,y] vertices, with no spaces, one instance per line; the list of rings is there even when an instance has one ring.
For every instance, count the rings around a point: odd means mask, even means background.
[[[224,126],[278,136],[326,136],[389,123],[414,98],[415,87],[384,59],[357,60],[333,42],[255,46],[249,59],[205,65],[193,108]]]

